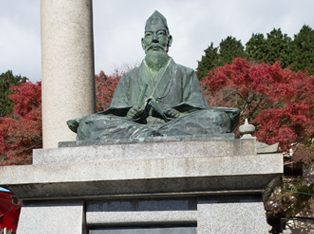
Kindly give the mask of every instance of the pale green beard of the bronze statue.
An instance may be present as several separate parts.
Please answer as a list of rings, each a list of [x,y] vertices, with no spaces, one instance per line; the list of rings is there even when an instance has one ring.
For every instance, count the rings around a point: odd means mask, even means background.
[[[155,51],[149,50],[148,48],[146,50],[145,61],[147,66],[153,71],[159,71],[160,68],[164,67],[167,64],[169,59],[169,56],[165,49],[161,46],[159,47],[162,49]]]

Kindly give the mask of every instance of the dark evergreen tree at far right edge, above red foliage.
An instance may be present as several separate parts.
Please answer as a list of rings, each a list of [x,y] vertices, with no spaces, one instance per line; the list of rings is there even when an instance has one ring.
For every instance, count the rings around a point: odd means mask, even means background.
[[[314,74],[314,30],[303,25],[300,32],[294,35],[292,43],[294,71],[308,69],[309,74]]]

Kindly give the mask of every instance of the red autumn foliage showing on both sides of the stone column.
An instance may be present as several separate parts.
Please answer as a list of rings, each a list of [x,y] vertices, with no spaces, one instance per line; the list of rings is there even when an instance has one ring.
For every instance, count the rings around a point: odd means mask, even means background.
[[[95,75],[97,112],[109,108],[123,72]],[[0,165],[32,163],[32,150],[42,148],[41,82],[12,86],[13,113],[0,117]]]

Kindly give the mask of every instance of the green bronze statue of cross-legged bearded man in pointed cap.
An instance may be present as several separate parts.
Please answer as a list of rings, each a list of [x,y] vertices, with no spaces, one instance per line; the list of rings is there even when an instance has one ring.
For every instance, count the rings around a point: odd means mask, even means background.
[[[195,72],[168,56],[172,43],[166,18],[155,11],[147,20],[145,59],[125,73],[109,109],[67,121],[77,140],[133,139],[230,133],[239,110],[209,107]]]

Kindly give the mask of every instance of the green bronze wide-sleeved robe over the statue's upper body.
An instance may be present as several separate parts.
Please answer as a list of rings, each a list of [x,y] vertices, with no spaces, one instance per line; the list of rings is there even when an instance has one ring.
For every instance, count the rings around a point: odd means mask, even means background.
[[[171,58],[154,81],[145,61],[139,67],[125,73],[114,93],[108,110],[100,114],[125,116],[138,104],[143,84],[148,84],[145,99],[153,97],[161,109],[172,107],[179,112],[208,108],[207,101],[193,69],[176,64]],[[157,76],[158,76],[157,75]]]

